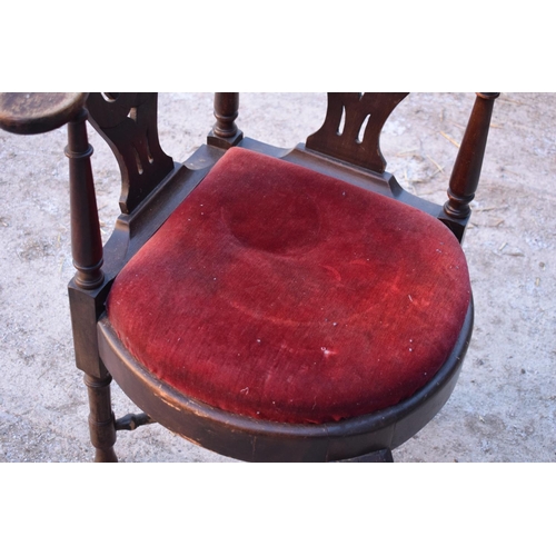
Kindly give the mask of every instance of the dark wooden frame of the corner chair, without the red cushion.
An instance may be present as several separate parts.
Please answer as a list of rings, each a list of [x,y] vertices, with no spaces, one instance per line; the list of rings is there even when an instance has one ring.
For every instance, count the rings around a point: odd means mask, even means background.
[[[32,97],[3,95],[0,127],[44,132],[68,123],[71,242],[77,269],[69,299],[77,367],[85,373],[96,461],[116,461],[117,430],[158,421],[189,440],[249,461],[390,461],[391,449],[423,428],[449,398],[470,341],[473,300],[456,346],[434,379],[409,399],[363,417],[324,425],[287,425],[212,408],[178,393],[141,367],[113,331],[105,310],[110,287],[130,258],[157,231],[231,146],[288,160],[411,205],[440,219],[463,240],[480,175],[494,100],[477,93],[441,206],[405,191],[385,171],[380,130],[406,93],[329,93],[322,127],[306,143],[278,149],[244,138],[236,126],[238,93],[216,93],[216,125],[207,145],[176,163],[158,142],[156,93]],[[112,148],[122,175],[121,215],[102,246],[86,121]],[[341,127],[341,132],[340,132]],[[359,139],[363,135],[363,139]],[[112,377],[143,411],[116,419]]]

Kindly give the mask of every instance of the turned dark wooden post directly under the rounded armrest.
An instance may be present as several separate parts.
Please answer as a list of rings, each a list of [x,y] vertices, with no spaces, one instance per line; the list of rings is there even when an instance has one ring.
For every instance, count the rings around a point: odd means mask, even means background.
[[[77,269],[76,284],[83,289],[98,288],[105,277],[102,267],[102,240],[97,210],[97,197],[92,179],[92,147],[87,137],[88,112],[83,108],[68,123],[71,250]]]

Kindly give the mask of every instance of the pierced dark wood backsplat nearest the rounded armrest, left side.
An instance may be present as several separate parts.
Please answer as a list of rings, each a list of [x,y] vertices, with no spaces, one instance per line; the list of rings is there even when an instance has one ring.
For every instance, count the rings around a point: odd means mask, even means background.
[[[173,170],[158,140],[156,92],[91,92],[89,121],[112,149],[121,171],[120,209],[131,212]]]

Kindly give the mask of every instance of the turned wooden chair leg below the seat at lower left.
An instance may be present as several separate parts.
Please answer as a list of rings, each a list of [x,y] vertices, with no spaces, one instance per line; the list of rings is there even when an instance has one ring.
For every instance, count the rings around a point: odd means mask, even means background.
[[[116,463],[118,457],[113,450],[116,443],[116,421],[110,398],[112,377],[105,378],[85,375],[85,384],[89,394],[89,430],[91,444],[96,448],[96,463]]]

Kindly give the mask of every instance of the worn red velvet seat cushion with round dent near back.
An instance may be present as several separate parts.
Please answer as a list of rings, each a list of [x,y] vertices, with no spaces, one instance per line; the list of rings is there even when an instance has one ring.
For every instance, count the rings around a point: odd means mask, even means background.
[[[326,423],[430,380],[469,299],[463,251],[438,220],[234,148],[120,272],[108,315],[190,397]]]

